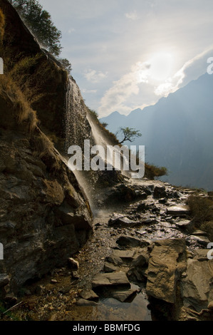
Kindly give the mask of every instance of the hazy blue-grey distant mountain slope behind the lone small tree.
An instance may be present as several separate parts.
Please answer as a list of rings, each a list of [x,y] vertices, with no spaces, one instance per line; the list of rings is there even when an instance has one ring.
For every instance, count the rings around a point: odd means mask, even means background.
[[[148,163],[165,166],[164,180],[213,190],[213,75],[204,74],[155,105],[101,118],[113,133],[122,127],[140,130],[133,145],[145,145]],[[126,143],[129,144],[129,143]]]

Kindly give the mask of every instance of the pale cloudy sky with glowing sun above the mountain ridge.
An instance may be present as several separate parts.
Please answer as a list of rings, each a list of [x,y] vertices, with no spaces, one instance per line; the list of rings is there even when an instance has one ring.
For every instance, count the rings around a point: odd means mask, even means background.
[[[212,0],[39,0],[62,33],[85,104],[104,117],[153,105],[207,72]]]

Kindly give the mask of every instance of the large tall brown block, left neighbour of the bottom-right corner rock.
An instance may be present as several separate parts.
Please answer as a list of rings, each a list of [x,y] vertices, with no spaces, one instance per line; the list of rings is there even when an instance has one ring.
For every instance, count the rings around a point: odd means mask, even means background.
[[[185,269],[185,239],[156,241],[147,269],[147,294],[174,304],[177,279]]]

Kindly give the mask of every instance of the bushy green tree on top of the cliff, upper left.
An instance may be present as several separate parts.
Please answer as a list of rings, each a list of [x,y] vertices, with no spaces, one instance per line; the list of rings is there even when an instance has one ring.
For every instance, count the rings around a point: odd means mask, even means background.
[[[51,14],[45,11],[37,0],[11,0],[28,29],[37,38],[38,43],[50,53],[58,56],[61,53],[61,31],[51,21]]]

